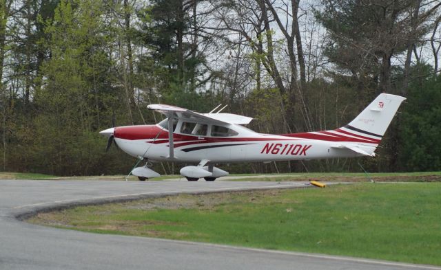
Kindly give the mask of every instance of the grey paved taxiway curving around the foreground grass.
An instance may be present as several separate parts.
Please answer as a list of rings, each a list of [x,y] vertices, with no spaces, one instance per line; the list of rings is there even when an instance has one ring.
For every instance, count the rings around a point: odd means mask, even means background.
[[[19,214],[56,205],[305,183],[0,180],[0,269],[441,269],[395,262],[88,234],[31,225]]]

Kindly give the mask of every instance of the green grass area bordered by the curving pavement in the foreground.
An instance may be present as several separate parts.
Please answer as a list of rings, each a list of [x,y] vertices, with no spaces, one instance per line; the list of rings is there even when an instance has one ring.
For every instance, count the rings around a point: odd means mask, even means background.
[[[86,232],[441,265],[441,183],[171,196],[39,214]]]

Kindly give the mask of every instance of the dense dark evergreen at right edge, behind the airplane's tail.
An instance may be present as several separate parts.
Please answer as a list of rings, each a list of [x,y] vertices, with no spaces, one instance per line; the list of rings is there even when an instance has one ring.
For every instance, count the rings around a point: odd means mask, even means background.
[[[441,169],[441,75],[424,77],[432,71],[427,65],[411,69],[420,79],[409,84],[407,104],[400,117],[398,157],[402,170]]]

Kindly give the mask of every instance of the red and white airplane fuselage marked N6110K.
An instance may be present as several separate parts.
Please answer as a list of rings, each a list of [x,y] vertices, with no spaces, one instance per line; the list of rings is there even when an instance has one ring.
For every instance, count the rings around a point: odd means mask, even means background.
[[[334,146],[338,142],[356,143],[367,152],[376,147],[375,139],[351,138],[342,134],[267,135],[255,133],[239,125],[232,125],[230,128],[238,131],[240,136],[210,137],[174,133],[174,161],[197,163],[202,159],[208,159],[212,163],[230,163],[358,157],[362,155]],[[114,139],[119,148],[134,157],[170,161],[168,131],[161,126],[117,127]],[[360,146],[360,143],[363,145]]]

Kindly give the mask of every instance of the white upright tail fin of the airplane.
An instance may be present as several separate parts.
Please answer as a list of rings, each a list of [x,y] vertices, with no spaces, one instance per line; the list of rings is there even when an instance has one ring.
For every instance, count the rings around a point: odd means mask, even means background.
[[[404,100],[406,98],[400,95],[381,93],[352,122],[343,128],[359,135],[381,139]]]

